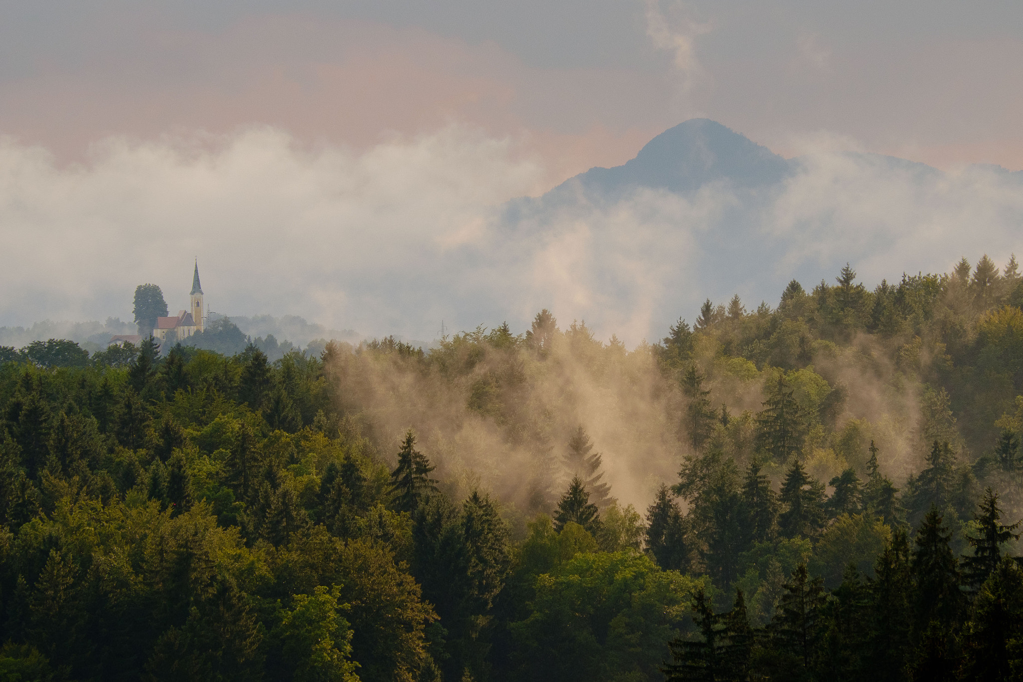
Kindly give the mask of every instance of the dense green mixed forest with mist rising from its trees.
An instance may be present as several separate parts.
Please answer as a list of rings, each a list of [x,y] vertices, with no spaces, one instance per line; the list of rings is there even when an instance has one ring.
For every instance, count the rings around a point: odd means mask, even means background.
[[[0,348],[0,680],[1023,679],[1021,306]]]

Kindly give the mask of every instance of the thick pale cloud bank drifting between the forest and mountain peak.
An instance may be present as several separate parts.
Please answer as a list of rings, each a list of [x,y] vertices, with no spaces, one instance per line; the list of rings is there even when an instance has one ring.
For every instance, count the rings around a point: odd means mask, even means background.
[[[824,138],[822,138],[824,139]],[[831,144],[831,142],[829,142]],[[0,324],[131,316],[137,284],[182,308],[197,257],[228,315],[297,314],[333,328],[430,339],[541,308],[599,338],[660,338],[707,297],[775,302],[846,261],[870,286],[966,255],[1023,255],[1023,182],[822,150],[785,184],[692,196],[577,195],[511,219],[545,169],[515,140],[448,126],[363,151],[273,128],[115,137],[88,163],[0,142]]]

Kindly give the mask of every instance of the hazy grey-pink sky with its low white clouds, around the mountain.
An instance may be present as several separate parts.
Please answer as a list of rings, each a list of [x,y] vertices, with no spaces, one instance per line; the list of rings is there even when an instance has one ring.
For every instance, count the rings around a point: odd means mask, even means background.
[[[183,307],[198,258],[227,314],[422,338],[441,319],[521,326],[558,305],[653,339],[704,293],[668,276],[662,241],[692,253],[727,197],[646,197],[534,241],[503,239],[494,207],[695,117],[786,156],[855,149],[947,171],[896,190],[869,168],[836,185],[848,169],[815,162],[771,209],[846,209],[793,255],[830,268],[819,254],[887,224],[893,202],[907,234],[934,223],[936,195],[958,207],[926,259],[908,242],[887,261],[856,252],[873,285],[900,257],[942,270],[1023,251],[1015,190],[964,170],[1023,169],[1021,112],[1019,2],[3,1],[0,324],[127,319],[142,281]],[[862,215],[850,186],[868,192]],[[786,221],[765,229],[805,223]]]

